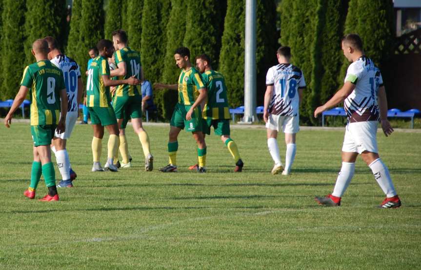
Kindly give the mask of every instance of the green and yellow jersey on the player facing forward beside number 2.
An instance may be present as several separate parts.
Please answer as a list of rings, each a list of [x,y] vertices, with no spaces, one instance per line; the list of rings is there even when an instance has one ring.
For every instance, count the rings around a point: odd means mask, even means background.
[[[206,88],[197,69],[182,70],[179,77],[179,103],[193,105],[199,96],[199,90]]]

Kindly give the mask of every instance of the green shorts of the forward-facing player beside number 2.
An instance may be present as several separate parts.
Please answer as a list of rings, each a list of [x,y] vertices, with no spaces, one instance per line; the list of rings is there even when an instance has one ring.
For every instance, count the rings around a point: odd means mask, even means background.
[[[186,120],[186,114],[190,110],[191,105],[183,105],[180,103],[176,104],[174,108],[173,116],[171,116],[171,126],[184,129],[186,127],[187,132],[198,132],[202,131],[202,117],[200,106],[198,106],[192,114],[191,120]]]

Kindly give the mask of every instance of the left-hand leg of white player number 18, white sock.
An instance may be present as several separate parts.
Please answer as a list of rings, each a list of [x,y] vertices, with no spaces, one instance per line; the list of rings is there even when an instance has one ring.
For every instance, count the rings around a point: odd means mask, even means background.
[[[283,171],[277,140],[279,127],[281,126],[280,121],[280,116],[270,114],[266,123],[267,148],[269,149],[269,154],[275,163],[272,169],[272,174],[279,174]]]

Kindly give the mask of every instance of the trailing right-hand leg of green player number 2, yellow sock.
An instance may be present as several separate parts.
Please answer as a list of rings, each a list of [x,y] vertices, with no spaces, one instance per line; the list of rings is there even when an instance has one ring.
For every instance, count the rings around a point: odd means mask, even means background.
[[[234,162],[235,162],[234,172],[241,172],[242,167],[244,166],[244,163],[241,160],[237,143],[230,137],[231,130],[229,127],[229,120],[220,119],[220,120],[214,121],[213,127],[215,130],[215,134],[221,136],[222,142],[226,145],[229,153],[231,153],[232,157],[234,158]]]

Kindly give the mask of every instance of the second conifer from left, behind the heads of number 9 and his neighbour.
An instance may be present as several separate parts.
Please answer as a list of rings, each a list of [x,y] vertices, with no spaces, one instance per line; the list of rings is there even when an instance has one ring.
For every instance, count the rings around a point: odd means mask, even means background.
[[[40,16],[42,14],[42,16]],[[62,29],[66,31],[65,22],[66,8],[65,0],[38,0],[26,1],[25,13],[25,62],[30,64],[34,60],[31,53],[32,43],[36,39],[45,36],[55,37],[59,44],[63,43],[60,35]]]

